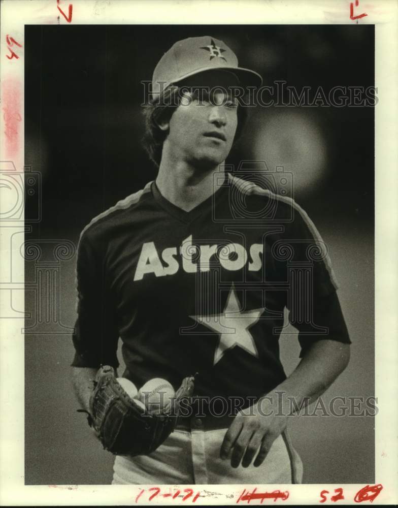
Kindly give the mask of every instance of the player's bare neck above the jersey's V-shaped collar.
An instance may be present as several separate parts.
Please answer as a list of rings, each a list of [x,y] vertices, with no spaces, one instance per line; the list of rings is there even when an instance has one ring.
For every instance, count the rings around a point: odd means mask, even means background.
[[[216,192],[216,182],[220,179],[214,179],[213,175],[220,171],[222,166],[197,170],[184,162],[170,166],[162,160],[156,185],[165,199],[189,212]]]

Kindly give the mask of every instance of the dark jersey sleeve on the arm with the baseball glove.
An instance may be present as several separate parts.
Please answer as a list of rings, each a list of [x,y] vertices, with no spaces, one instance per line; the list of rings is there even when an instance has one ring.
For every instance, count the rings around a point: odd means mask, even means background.
[[[81,235],[76,263],[78,316],[73,333],[73,367],[119,366],[116,355],[119,332],[101,250],[94,247],[87,234]]]

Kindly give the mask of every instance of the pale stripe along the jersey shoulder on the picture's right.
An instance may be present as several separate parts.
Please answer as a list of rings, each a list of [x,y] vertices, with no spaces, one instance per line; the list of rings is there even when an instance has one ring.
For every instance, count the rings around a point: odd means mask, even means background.
[[[239,190],[241,190],[241,192],[243,192],[245,194],[248,194],[248,195],[254,194],[257,196],[268,196],[270,198],[277,199],[278,201],[280,201],[282,203],[286,203],[287,205],[291,206],[294,210],[296,210],[298,213],[300,213],[301,217],[303,218],[305,224],[307,225],[310,233],[315,238],[315,240],[326,245],[326,243],[323,241],[321,235],[319,234],[319,231],[316,229],[315,224],[308,216],[307,212],[305,210],[303,210],[303,208],[300,205],[297,205],[297,203],[294,201],[294,199],[285,197],[285,196],[280,196],[279,194],[274,194],[268,189],[263,189],[262,187],[260,187],[259,185],[255,184],[253,182],[250,182],[248,180],[243,180],[241,178],[237,178],[236,176],[232,176],[229,173],[228,173],[228,177],[229,177],[231,183],[236,185],[239,188]],[[330,257],[328,255],[328,253],[326,254],[324,262],[325,262],[325,267],[329,273],[331,282],[333,283],[335,289],[338,289],[339,283],[337,281],[333,267],[331,266],[331,261],[330,261]]]

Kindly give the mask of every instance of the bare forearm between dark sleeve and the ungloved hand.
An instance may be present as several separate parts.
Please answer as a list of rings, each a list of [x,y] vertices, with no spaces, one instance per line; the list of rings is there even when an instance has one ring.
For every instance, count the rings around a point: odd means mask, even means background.
[[[267,394],[275,410],[288,415],[295,412],[294,407],[314,402],[347,367],[349,358],[349,344],[327,339],[315,342],[290,376]]]

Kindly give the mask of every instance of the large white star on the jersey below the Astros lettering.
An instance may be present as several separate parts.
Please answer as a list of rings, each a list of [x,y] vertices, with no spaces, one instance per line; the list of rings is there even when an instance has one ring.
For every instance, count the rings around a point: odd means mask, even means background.
[[[220,334],[218,346],[214,353],[215,365],[221,360],[228,349],[235,346],[242,347],[245,351],[258,358],[254,339],[248,329],[257,323],[264,310],[264,308],[260,308],[241,311],[234,285],[232,285],[224,312],[221,314],[189,317]]]

